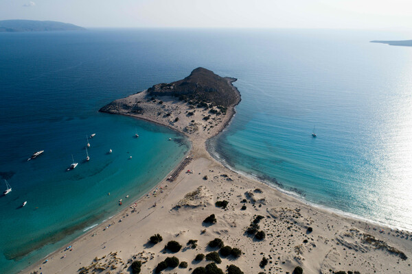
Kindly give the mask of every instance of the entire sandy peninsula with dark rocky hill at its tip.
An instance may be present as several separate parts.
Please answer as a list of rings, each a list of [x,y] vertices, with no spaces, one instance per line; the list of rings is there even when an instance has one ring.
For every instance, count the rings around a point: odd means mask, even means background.
[[[192,148],[146,197],[23,272],[411,273],[411,233],[315,208],[211,158],[206,140],[240,102],[234,81],[198,68],[105,105]]]

